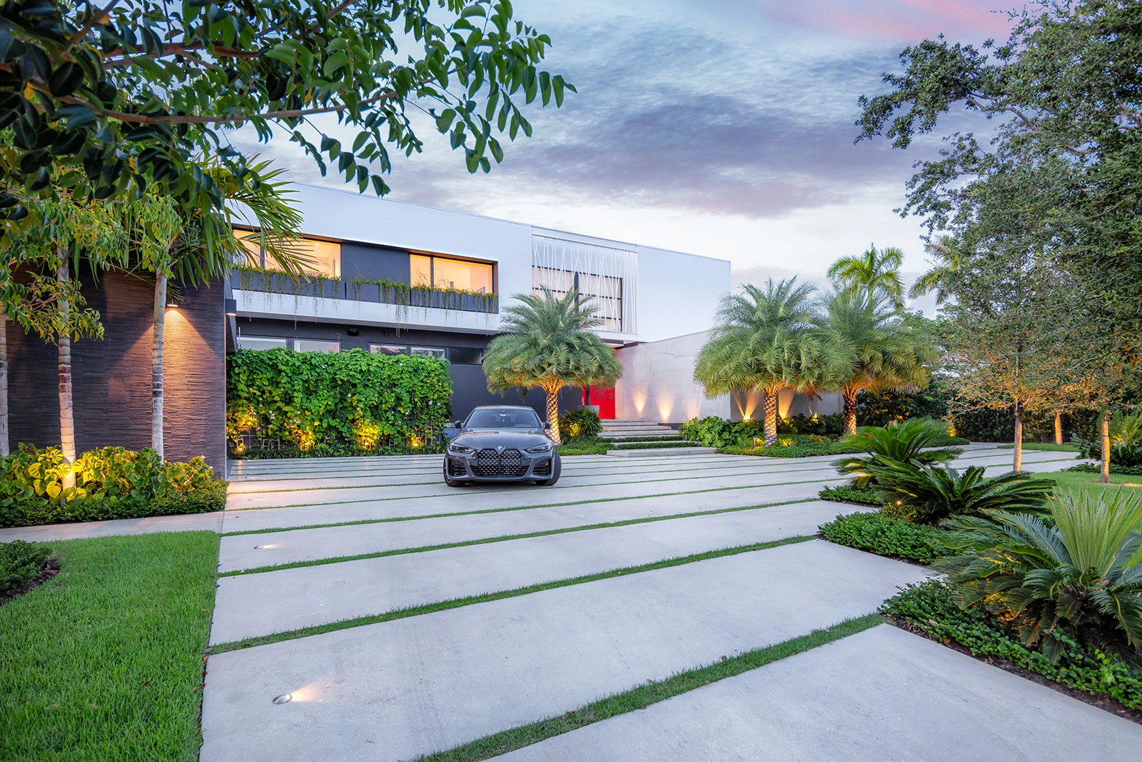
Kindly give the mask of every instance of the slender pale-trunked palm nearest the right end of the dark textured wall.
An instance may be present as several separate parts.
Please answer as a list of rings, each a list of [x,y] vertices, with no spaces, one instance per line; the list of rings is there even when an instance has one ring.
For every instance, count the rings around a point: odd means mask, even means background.
[[[224,275],[244,249],[234,235],[233,218],[239,214],[233,202],[252,212],[266,252],[287,272],[298,273],[305,258],[290,246],[298,238],[301,215],[287,198],[286,182],[275,178],[283,171],[265,171],[268,162],[252,167],[262,183],[252,187],[222,167],[207,168],[215,186],[227,203],[223,211],[207,203],[187,211],[170,198],[147,194],[124,207],[124,222],[131,233],[134,266],[154,273],[154,322],[151,344],[151,448],[163,456],[164,376],[163,329],[167,314],[167,287],[171,278],[187,286],[199,286]],[[254,222],[250,220],[250,222]]]

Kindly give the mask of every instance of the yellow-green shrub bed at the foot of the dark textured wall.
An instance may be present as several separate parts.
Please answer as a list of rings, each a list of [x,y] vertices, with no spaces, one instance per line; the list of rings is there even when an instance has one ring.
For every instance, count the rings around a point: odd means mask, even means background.
[[[75,458],[75,487],[64,489],[59,448],[27,444],[0,460],[0,527],[206,513],[226,507],[228,482],[202,458],[166,463],[154,450],[121,447]]]

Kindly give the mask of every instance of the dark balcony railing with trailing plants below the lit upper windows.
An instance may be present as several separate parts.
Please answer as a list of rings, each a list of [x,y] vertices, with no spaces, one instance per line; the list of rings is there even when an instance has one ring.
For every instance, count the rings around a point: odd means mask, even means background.
[[[499,296],[496,294],[409,286],[391,281],[343,280],[320,275],[293,278],[282,272],[236,267],[230,273],[230,284],[235,290],[316,299],[345,299],[493,314],[499,312]]]

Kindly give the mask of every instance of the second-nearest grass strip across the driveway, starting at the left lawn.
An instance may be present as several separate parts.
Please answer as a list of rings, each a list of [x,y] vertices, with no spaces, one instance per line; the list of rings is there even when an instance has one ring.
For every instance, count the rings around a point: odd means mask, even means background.
[[[673,559],[662,559],[660,561],[652,561],[651,563],[641,563],[636,567],[620,567],[618,569],[611,569],[609,571],[598,571],[593,575],[568,577],[565,579],[553,579],[552,581],[528,585],[526,587],[516,587],[514,589],[505,589],[496,593],[482,593],[480,595],[466,595],[465,597],[453,597],[447,601],[439,601],[436,603],[425,603],[423,605],[411,605],[403,609],[394,609],[392,611],[386,611],[385,613],[375,613],[367,617],[354,617],[353,619],[341,619],[340,621],[330,621],[324,625],[300,627],[298,629],[290,629],[287,632],[274,633],[272,635],[262,635],[259,637],[247,637],[240,641],[218,643],[217,645],[211,645],[209,651],[211,653],[225,653],[226,651],[235,651],[241,648],[249,648],[254,645],[267,645],[270,643],[278,643],[283,640],[296,640],[298,637],[321,635],[322,633],[330,633],[338,629],[348,629],[349,627],[363,627],[364,625],[375,625],[381,621],[388,621],[391,619],[404,619],[408,617],[418,617],[423,613],[433,613],[435,611],[445,611],[448,609],[459,609],[465,605],[473,605],[474,603],[486,603],[488,601],[498,601],[505,597],[517,597],[520,595],[530,595],[531,593],[538,593],[545,589],[554,589],[556,587],[570,587],[571,585],[582,585],[585,583],[592,583],[598,579],[609,579],[611,577],[625,577],[627,575],[636,575],[636,573],[642,573],[643,571],[653,571],[656,569],[666,569],[668,567],[681,567],[683,564],[694,563],[697,561],[708,561],[710,559],[719,559],[725,555],[738,555],[739,553],[748,553],[750,551],[764,551],[766,548],[779,547],[781,545],[794,545],[796,543],[805,543],[811,539],[817,539],[817,536],[801,535],[797,537],[786,537],[785,539],[771,540],[769,543],[751,543],[749,545],[724,547],[717,551],[706,551],[703,553],[679,555]]]

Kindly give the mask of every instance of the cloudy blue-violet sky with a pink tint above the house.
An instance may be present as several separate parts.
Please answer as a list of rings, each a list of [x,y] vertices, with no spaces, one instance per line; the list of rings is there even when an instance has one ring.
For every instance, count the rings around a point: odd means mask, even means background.
[[[729,259],[734,283],[797,275],[825,284],[837,257],[895,246],[925,270],[916,218],[893,209],[916,160],[883,138],[853,143],[856,98],[884,91],[907,45],[1005,39],[1000,0],[516,0],[547,33],[544,66],[578,88],[531,109],[489,175],[425,120],[424,153],[400,155],[391,198]],[[954,117],[954,119],[962,119]],[[333,119],[319,122],[352,143]],[[344,138],[348,137],[347,141]],[[321,177],[287,134],[235,145]],[[911,305],[933,312],[931,297]]]

